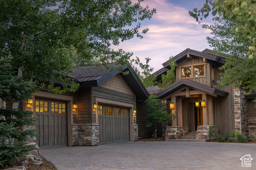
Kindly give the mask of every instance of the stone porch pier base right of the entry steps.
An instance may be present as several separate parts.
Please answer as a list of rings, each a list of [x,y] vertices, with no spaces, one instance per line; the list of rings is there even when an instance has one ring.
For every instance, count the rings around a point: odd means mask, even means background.
[[[197,126],[196,139],[217,139],[217,135],[220,133],[220,127],[212,125],[212,134],[209,133],[210,125]]]

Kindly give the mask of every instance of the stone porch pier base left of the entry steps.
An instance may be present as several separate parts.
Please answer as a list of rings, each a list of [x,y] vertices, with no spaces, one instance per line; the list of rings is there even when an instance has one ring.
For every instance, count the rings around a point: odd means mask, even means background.
[[[165,139],[181,139],[188,135],[187,126],[167,126]]]

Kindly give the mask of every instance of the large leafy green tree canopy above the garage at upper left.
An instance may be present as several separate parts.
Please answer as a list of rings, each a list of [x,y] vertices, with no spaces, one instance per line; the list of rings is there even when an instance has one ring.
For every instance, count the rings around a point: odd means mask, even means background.
[[[22,71],[22,79],[34,78],[40,90],[75,91],[78,85],[65,74],[72,71],[75,59],[129,64],[132,53],[112,46],[142,38],[148,31],[140,30],[139,21],[150,19],[156,10],[143,8],[142,1],[0,1],[0,55],[11,53],[12,66]],[[63,90],[47,82],[56,77]]]

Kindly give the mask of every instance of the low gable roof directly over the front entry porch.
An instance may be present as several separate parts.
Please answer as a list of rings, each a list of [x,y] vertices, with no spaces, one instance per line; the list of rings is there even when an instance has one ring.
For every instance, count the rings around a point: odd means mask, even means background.
[[[186,79],[180,79],[178,82],[175,82],[174,84],[171,84],[170,86],[168,86],[167,88],[163,89],[162,91],[158,92],[156,94],[157,98],[163,99],[166,96],[176,92],[177,90],[179,90],[180,88],[184,87],[184,86],[191,86],[200,90],[203,90],[205,92],[208,92],[210,94],[216,94],[219,96],[224,96],[227,97],[228,96],[228,92],[222,91],[222,90],[218,90],[216,88],[212,88],[209,86],[205,86],[203,84],[197,83],[197,82],[193,82],[191,80],[186,80]]]

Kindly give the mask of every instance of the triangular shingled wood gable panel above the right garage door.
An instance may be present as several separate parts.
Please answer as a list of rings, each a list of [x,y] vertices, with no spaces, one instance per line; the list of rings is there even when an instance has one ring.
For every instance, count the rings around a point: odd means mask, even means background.
[[[108,88],[110,90],[115,90],[118,92],[134,95],[130,87],[126,84],[121,74],[118,73],[114,77],[110,78],[106,82],[102,83],[100,87]]]

